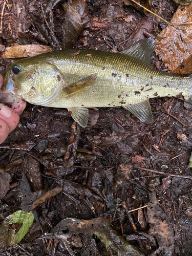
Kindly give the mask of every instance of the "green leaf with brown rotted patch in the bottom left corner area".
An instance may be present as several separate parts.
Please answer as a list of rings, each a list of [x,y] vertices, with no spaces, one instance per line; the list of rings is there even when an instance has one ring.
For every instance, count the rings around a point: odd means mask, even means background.
[[[25,237],[33,220],[31,211],[18,210],[9,215],[0,225],[0,248],[19,243]]]

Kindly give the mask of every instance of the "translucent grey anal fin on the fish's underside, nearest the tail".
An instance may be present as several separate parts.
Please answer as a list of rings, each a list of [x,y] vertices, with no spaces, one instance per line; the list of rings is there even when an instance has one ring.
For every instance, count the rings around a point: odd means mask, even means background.
[[[123,106],[123,108],[125,108],[126,110],[129,110],[142,122],[145,122],[145,123],[153,122],[153,114],[152,114],[150,102],[148,101],[148,99],[133,105]]]

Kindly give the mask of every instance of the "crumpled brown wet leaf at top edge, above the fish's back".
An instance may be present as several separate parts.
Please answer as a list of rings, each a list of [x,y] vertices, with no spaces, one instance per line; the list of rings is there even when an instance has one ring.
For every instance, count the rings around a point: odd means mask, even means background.
[[[66,20],[62,26],[64,48],[72,48],[83,28],[91,26],[86,0],[68,1],[65,5]]]

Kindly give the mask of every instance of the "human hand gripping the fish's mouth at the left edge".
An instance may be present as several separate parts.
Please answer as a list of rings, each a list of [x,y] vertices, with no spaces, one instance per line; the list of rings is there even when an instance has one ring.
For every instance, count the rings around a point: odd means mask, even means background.
[[[0,74],[0,89],[3,86],[4,79]],[[19,115],[21,115],[26,108],[26,102],[14,104],[9,108],[8,106],[0,103],[0,144],[6,140],[8,134],[12,132],[18,122]]]

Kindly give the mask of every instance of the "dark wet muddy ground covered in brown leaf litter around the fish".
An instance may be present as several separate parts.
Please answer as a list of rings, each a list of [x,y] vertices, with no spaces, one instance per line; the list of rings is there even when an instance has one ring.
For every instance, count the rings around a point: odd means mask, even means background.
[[[6,2],[2,51],[8,46],[44,44],[55,50],[74,47],[117,52],[144,38],[144,31],[156,36],[166,26],[142,8],[126,5],[128,1],[88,0],[85,16],[90,18],[83,19],[82,31],[74,39],[65,27],[63,1],[46,3]],[[4,1],[0,4],[3,7]],[[177,5],[170,0],[151,1],[151,9],[170,20]],[[12,61],[15,59],[2,59],[0,69],[5,71]],[[166,70],[155,54],[152,63],[154,68]],[[106,255],[98,237],[83,236],[83,229],[78,231],[82,246],[45,238],[61,220],[97,217],[108,219],[144,255],[192,255],[192,176],[187,168],[192,106],[176,98],[150,103],[151,125],[123,108],[101,108],[90,110],[86,128],[76,124],[67,110],[27,105],[0,150],[1,166],[11,177],[0,218],[4,220],[20,207],[30,210],[31,198],[22,205],[30,193],[56,187],[62,187],[62,192],[33,210],[35,220],[25,238],[2,249],[1,255]],[[154,192],[158,201],[152,197]],[[154,204],[154,211],[140,208],[148,202]],[[90,238],[96,241],[97,252],[89,249]]]

